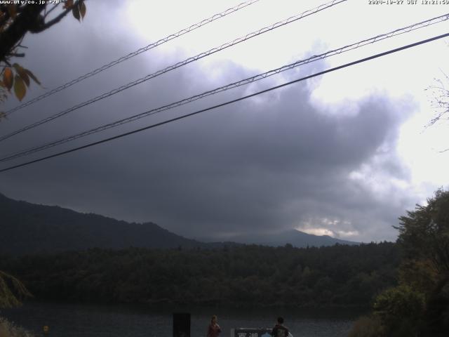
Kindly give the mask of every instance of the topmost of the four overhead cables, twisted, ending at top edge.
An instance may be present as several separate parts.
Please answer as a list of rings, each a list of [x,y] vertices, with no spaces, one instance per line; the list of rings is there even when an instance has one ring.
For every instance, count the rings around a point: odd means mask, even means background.
[[[103,65],[100,68],[97,68],[95,70],[92,70],[91,72],[88,72],[87,74],[83,74],[82,76],[80,76],[80,77],[78,77],[76,79],[72,79],[72,81],[68,81],[67,83],[58,86],[58,88],[54,88],[53,90],[48,91],[46,93],[43,93],[42,95],[39,95],[36,98],[33,98],[32,100],[29,100],[29,101],[27,101],[27,102],[25,102],[25,103],[23,103],[21,105],[18,105],[17,107],[14,107],[13,109],[8,110],[7,112],[5,112],[5,115],[8,116],[8,114],[12,114],[13,112],[18,111],[18,110],[22,109],[23,107],[27,107],[29,105],[32,105],[32,104],[38,102],[39,100],[42,100],[43,98],[47,98],[48,96],[51,96],[54,93],[58,93],[59,91],[62,91],[64,89],[66,89],[66,88],[69,88],[69,86],[73,86],[76,83],[79,83],[79,82],[81,82],[81,81],[83,81],[85,79],[88,79],[89,77],[92,77],[92,76],[94,76],[96,74],[99,74],[100,72],[102,72],[104,70],[107,70],[110,67],[114,67],[114,65],[118,65],[119,63],[121,63],[123,61],[129,60],[130,58],[133,58],[134,56],[137,56],[137,55],[139,55],[141,53],[145,53],[145,51],[149,51],[150,49],[155,48],[157,46],[160,46],[161,44],[165,44],[168,41],[176,39],[177,37],[181,37],[182,35],[187,34],[189,32],[192,32],[193,30],[195,30],[195,29],[197,29],[199,27],[202,27],[204,25],[207,25],[210,22],[213,22],[213,21],[218,20],[220,18],[224,18],[226,15],[229,15],[231,13],[239,11],[240,9],[245,8],[247,6],[250,6],[250,5],[254,4],[254,3],[256,3],[257,1],[259,1],[259,0],[245,1],[245,2],[242,2],[241,4],[239,4],[237,6],[234,6],[232,8],[228,8],[227,10],[222,11],[221,13],[214,14],[210,18],[201,20],[200,22],[195,23],[194,25],[191,25],[191,26],[189,26],[189,27],[187,27],[185,29],[181,29],[179,32],[176,32],[174,34],[170,34],[170,35],[168,35],[168,37],[164,37],[163,39],[160,39],[160,40],[158,40],[158,41],[156,41],[156,42],[154,42],[152,44],[149,44],[149,45],[147,45],[145,47],[142,47],[142,48],[138,49],[137,51],[133,51],[133,53],[129,53],[128,55],[122,56],[121,58],[118,58],[118,59],[116,59],[116,60],[114,60],[112,62],[109,62],[109,63],[107,63],[106,65]]]

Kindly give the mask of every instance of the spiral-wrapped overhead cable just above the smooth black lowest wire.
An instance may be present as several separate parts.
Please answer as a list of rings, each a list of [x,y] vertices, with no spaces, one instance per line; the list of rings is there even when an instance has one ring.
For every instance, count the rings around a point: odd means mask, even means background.
[[[34,153],[40,152],[42,150],[47,150],[47,149],[49,149],[51,147],[55,147],[57,145],[62,145],[62,144],[67,143],[69,141],[76,140],[78,138],[82,138],[82,137],[91,135],[93,133],[98,133],[98,132],[101,132],[101,131],[105,131],[105,130],[107,130],[109,128],[114,128],[116,126],[120,126],[122,124],[126,124],[126,123],[129,123],[131,121],[135,121],[135,120],[141,119],[143,117],[148,117],[148,116],[150,116],[152,114],[157,114],[159,112],[170,110],[170,109],[173,109],[175,107],[179,107],[181,105],[185,105],[187,103],[192,103],[195,100],[199,100],[201,98],[205,98],[205,97],[207,97],[209,95],[214,95],[215,93],[220,93],[222,91],[227,91],[227,90],[229,90],[231,88],[237,88],[239,86],[243,86],[243,85],[246,85],[246,84],[253,83],[255,81],[259,81],[260,79],[265,79],[267,77],[271,77],[271,76],[273,76],[275,74],[279,74],[279,73],[284,72],[286,70],[291,70],[291,69],[293,69],[295,67],[298,67],[300,65],[305,65],[307,63],[315,62],[317,60],[323,60],[324,58],[328,58],[328,57],[330,57],[332,55],[345,53],[347,51],[351,51],[353,49],[360,48],[360,47],[366,46],[368,44],[373,44],[375,42],[382,41],[382,40],[388,39],[390,37],[395,37],[395,36],[400,35],[400,34],[405,34],[405,33],[414,31],[415,29],[428,27],[429,25],[434,25],[436,23],[443,22],[443,21],[448,20],[448,19],[449,19],[449,13],[445,14],[445,15],[438,16],[436,18],[431,18],[429,20],[425,20],[425,21],[422,21],[422,22],[417,22],[417,23],[415,23],[413,25],[408,25],[408,26],[403,27],[403,28],[395,29],[394,31],[391,31],[391,32],[388,32],[388,33],[376,35],[375,37],[371,37],[369,39],[364,39],[364,40],[358,41],[358,42],[356,42],[354,44],[349,44],[349,45],[341,47],[341,48],[333,49],[331,51],[327,51],[326,53],[322,53],[322,54],[319,54],[319,55],[311,56],[310,58],[307,58],[305,60],[298,60],[296,62],[290,63],[289,65],[283,65],[282,67],[276,68],[274,70],[269,70],[268,72],[264,72],[262,74],[257,74],[257,75],[255,75],[253,77],[248,77],[246,79],[242,79],[240,81],[236,81],[234,83],[227,84],[225,86],[220,86],[219,88],[215,88],[213,90],[206,91],[206,92],[200,93],[198,95],[194,95],[192,97],[185,98],[183,100],[179,100],[179,101],[177,101],[175,103],[170,103],[168,105],[163,105],[162,107],[157,107],[155,109],[149,110],[147,112],[142,112],[140,114],[136,114],[136,115],[131,116],[131,117],[127,117],[127,118],[124,118],[124,119],[119,119],[118,121],[114,121],[114,122],[111,122],[109,124],[104,124],[102,126],[98,126],[96,128],[92,128],[91,130],[83,131],[81,133],[77,133],[76,135],[67,136],[67,137],[62,138],[60,140],[55,140],[55,141],[53,141],[51,143],[47,143],[47,144],[44,144],[44,145],[31,147],[31,148],[28,148],[26,150],[21,150],[19,152],[14,152],[12,154],[8,154],[6,157],[0,158],[0,162],[16,159],[16,158],[19,158],[19,157],[26,156],[28,154],[34,154]]]

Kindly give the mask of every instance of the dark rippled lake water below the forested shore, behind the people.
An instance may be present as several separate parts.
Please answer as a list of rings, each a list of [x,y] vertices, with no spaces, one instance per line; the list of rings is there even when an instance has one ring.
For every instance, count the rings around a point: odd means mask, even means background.
[[[343,337],[358,314],[345,310],[233,310],[230,308],[149,308],[143,305],[83,305],[27,303],[21,308],[2,310],[0,316],[48,337],[156,337],[173,336],[173,312],[190,312],[191,336],[206,337],[212,315],[218,316],[220,337],[230,337],[232,328],[271,327],[282,315],[294,337]]]

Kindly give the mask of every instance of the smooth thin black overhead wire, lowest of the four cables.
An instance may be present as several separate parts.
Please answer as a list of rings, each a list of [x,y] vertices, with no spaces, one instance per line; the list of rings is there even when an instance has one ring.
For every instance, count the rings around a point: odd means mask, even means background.
[[[289,86],[291,84],[295,84],[297,82],[304,81],[306,79],[311,79],[313,77],[321,76],[323,74],[327,74],[328,72],[334,72],[335,70],[340,70],[340,69],[343,69],[343,68],[346,68],[346,67],[351,67],[352,65],[357,65],[359,63],[366,62],[368,60],[373,60],[375,58],[380,58],[382,56],[389,55],[391,53],[396,53],[398,51],[403,51],[403,50],[408,49],[408,48],[413,48],[413,47],[419,46],[421,44],[427,44],[427,43],[429,43],[431,41],[435,41],[435,40],[438,40],[438,39],[443,39],[444,37],[449,37],[449,33],[441,34],[441,35],[438,35],[436,37],[431,37],[429,39],[418,41],[418,42],[415,42],[413,44],[408,44],[406,46],[402,46],[402,47],[399,47],[399,48],[394,48],[394,49],[391,49],[389,51],[384,51],[383,53],[378,53],[378,54],[375,54],[375,55],[371,55],[371,56],[368,56],[367,58],[361,58],[361,59],[353,61],[353,62],[345,63],[344,65],[339,65],[337,67],[333,67],[333,68],[330,68],[328,70],[323,70],[322,72],[316,72],[315,74],[311,74],[311,75],[306,76],[306,77],[301,77],[300,79],[295,79],[293,81],[288,81],[288,82],[286,82],[284,84],[280,84],[279,86],[272,86],[271,88],[267,88],[267,89],[264,89],[262,91],[257,91],[256,93],[252,93],[250,95],[246,95],[246,96],[243,96],[241,98],[236,98],[234,100],[228,100],[225,103],[220,103],[218,105],[213,105],[212,107],[207,107],[206,109],[202,109],[202,110],[197,110],[196,112],[191,112],[190,114],[185,114],[185,115],[182,115],[180,117],[175,117],[175,118],[172,118],[172,119],[168,119],[166,121],[161,121],[159,123],[152,124],[152,125],[149,125],[149,126],[145,126],[143,128],[138,128],[138,129],[133,130],[133,131],[129,131],[129,132],[126,132],[126,133],[121,133],[120,135],[117,135],[117,136],[105,138],[103,140],[98,140],[96,142],[89,143],[89,144],[86,144],[86,145],[82,145],[82,146],[79,146],[79,147],[74,147],[74,148],[72,148],[70,150],[58,152],[56,154],[51,154],[49,156],[41,157],[39,159],[34,159],[32,161],[27,161],[27,162],[22,163],[22,164],[10,166],[10,167],[8,167],[6,169],[1,169],[0,172],[10,171],[10,170],[22,167],[22,166],[27,166],[29,164],[37,163],[39,161],[51,159],[51,158],[54,158],[54,157],[59,157],[59,156],[62,156],[62,154],[68,154],[68,153],[71,153],[71,152],[75,152],[75,151],[78,151],[78,150],[83,150],[83,149],[86,149],[88,147],[92,147],[92,146],[99,145],[99,144],[102,144],[102,143],[107,143],[107,142],[109,142],[111,140],[115,140],[115,139],[118,139],[118,138],[123,138],[123,137],[126,137],[126,136],[130,136],[130,135],[132,135],[134,133],[139,133],[141,131],[148,130],[149,128],[155,128],[156,126],[161,126],[163,124],[168,124],[168,123],[171,123],[173,121],[177,121],[177,120],[180,120],[180,119],[185,119],[187,117],[194,116],[195,114],[201,114],[202,112],[206,112],[206,111],[209,111],[209,110],[217,109],[218,107],[224,107],[225,105],[236,103],[236,102],[239,102],[241,100],[246,100],[247,98],[251,98],[251,97],[254,97],[256,95],[260,95],[262,93],[267,93],[269,91],[273,91],[273,90],[276,90],[276,89],[279,89],[279,88],[283,88],[284,86]]]

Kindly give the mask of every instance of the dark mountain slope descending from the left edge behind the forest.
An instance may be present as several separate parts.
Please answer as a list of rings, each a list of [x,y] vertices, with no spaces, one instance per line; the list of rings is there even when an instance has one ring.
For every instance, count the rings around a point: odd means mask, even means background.
[[[15,201],[0,194],[0,253],[214,246],[181,237],[154,223],[126,223],[58,206]]]

